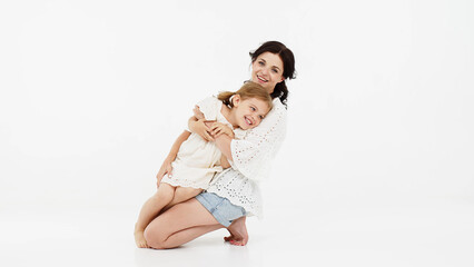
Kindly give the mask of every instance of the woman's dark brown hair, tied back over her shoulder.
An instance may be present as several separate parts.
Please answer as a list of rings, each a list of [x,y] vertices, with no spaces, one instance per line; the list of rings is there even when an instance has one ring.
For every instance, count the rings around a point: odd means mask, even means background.
[[[270,52],[278,55],[283,61],[283,77],[286,79],[295,79],[295,56],[293,56],[292,50],[289,50],[285,44],[279,41],[267,41],[261,44],[254,52],[249,52],[251,62],[254,63],[257,60],[258,56],[264,52]],[[285,85],[285,80],[278,82],[275,86],[274,92],[270,93],[271,98],[279,98],[279,100],[286,106],[286,100],[288,98],[288,88]]]

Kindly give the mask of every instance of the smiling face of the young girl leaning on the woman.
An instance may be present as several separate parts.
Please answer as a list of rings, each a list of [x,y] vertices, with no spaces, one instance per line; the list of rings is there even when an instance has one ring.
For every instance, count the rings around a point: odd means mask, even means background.
[[[266,101],[257,98],[241,100],[239,95],[233,98],[235,108],[235,123],[243,130],[257,127],[268,113],[269,106]]]

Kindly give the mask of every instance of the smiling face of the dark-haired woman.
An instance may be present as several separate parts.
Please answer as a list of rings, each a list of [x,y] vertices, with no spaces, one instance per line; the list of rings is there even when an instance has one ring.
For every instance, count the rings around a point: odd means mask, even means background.
[[[274,92],[275,86],[283,80],[283,61],[278,55],[264,52],[251,63],[251,81],[263,86],[268,93]]]

